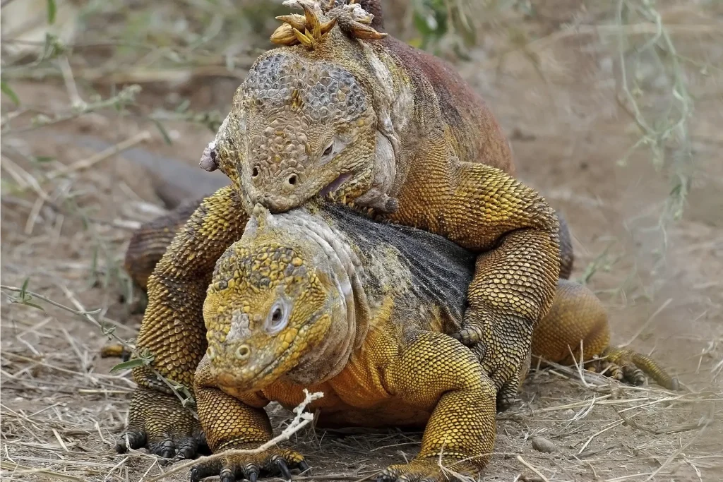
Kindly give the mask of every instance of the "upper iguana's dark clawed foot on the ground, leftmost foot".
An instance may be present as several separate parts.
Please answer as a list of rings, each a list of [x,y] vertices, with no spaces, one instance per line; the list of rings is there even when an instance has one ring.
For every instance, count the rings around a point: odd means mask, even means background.
[[[191,410],[174,395],[138,387],[129,408],[128,426],[116,443],[118,452],[147,447],[165,458],[191,458],[205,437]]]

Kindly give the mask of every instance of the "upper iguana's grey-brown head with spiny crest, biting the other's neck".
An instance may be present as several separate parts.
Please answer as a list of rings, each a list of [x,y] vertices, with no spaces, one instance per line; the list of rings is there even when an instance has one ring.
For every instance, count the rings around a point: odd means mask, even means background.
[[[272,212],[317,194],[359,197],[375,181],[380,149],[391,155],[388,142],[377,145],[375,84],[354,38],[385,35],[365,23],[373,16],[358,4],[286,4],[304,15],[279,17],[272,39],[284,46],[254,62],[214,144],[249,205]]]

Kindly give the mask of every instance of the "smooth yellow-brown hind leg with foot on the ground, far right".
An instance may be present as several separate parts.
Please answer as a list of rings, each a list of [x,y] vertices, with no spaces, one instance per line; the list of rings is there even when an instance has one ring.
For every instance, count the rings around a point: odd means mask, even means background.
[[[562,365],[583,360],[587,369],[604,371],[620,381],[639,385],[649,376],[662,387],[677,390],[677,379],[652,358],[609,343],[607,311],[600,300],[583,285],[559,280],[552,309],[532,336],[533,366],[538,359]]]

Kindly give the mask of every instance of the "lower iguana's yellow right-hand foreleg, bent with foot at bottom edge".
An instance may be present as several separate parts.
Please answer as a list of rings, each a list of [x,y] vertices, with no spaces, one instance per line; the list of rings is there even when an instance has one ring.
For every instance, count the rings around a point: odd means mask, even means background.
[[[432,411],[422,449],[408,464],[391,465],[377,481],[445,481],[445,468],[482,470],[495,445],[495,385],[471,350],[435,332],[407,335],[386,384],[401,401]]]

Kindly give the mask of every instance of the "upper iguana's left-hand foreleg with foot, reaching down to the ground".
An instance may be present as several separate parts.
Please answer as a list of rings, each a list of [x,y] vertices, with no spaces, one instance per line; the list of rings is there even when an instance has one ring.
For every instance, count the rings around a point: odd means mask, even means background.
[[[169,457],[194,454],[200,440],[197,421],[181,406],[166,382],[192,390],[194,371],[206,350],[203,301],[218,257],[241,237],[247,215],[231,186],[205,199],[176,233],[171,246],[148,278],[148,306],[137,338],[149,366],[133,370],[138,384],[129,408],[129,424],[118,449],[147,445]],[[153,368],[153,369],[152,369]]]

